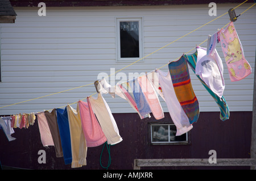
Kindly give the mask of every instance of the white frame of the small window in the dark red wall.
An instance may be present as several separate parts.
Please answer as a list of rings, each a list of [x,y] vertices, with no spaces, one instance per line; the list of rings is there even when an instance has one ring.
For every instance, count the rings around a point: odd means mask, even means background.
[[[153,137],[152,137],[152,126],[166,126],[168,125],[168,141],[153,141]],[[188,140],[188,132],[185,133],[186,134],[186,140],[185,141],[171,141],[170,139],[170,125],[174,125],[175,124],[150,124],[150,143],[153,145],[179,145],[179,144],[189,144],[189,140]]]

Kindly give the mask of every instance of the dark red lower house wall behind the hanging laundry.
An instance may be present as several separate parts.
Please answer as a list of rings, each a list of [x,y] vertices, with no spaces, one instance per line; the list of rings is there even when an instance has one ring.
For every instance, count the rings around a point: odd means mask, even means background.
[[[193,124],[190,145],[150,145],[148,123],[150,119],[139,119],[137,113],[114,113],[123,141],[110,146],[109,170],[133,169],[135,158],[209,158],[209,150],[217,151],[218,158],[250,158],[252,112],[230,112],[230,119],[221,121],[219,112],[200,112],[199,120]],[[170,121],[169,113],[164,121]],[[157,122],[157,121],[155,121]],[[171,123],[171,122],[170,122]],[[56,158],[53,146],[44,148],[40,140],[37,120],[28,129],[14,129],[16,138],[8,141],[0,130],[0,161],[3,166],[25,169],[71,169],[63,157]],[[87,165],[77,169],[103,169],[100,155],[103,145],[88,148]],[[46,163],[38,163],[38,151],[46,151]],[[102,154],[102,165],[108,165],[108,151]],[[142,167],[142,169],[213,169],[214,167]],[[249,169],[248,167],[218,167],[218,169]],[[72,169],[71,169],[72,170]],[[75,170],[75,169],[74,169]]]

